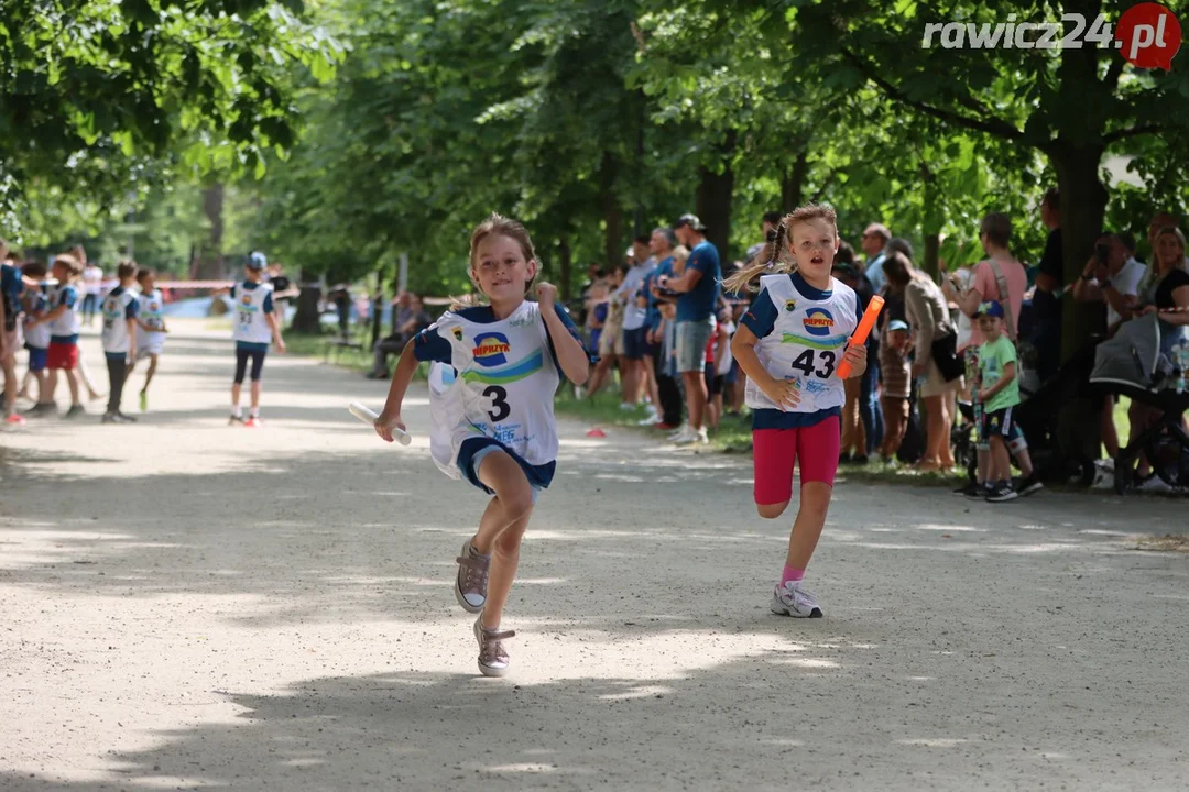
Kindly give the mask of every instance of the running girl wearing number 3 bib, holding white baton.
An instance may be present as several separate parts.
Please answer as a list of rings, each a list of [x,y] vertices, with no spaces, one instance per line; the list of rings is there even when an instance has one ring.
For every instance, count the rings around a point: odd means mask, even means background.
[[[556,287],[539,284],[537,302],[526,299],[537,261],[521,223],[495,214],[479,223],[470,261],[471,280],[489,304],[448,311],[405,346],[376,432],[391,443],[392,429],[404,429],[401,405],[417,363],[436,361],[435,372],[449,381],[435,387],[430,378],[434,461],[492,496],[455,559],[454,596],[479,614],[473,631],[480,673],[502,677],[509,664],[504,641],[514,633],[501,622],[521,539],[556,467],[553,397],[560,374],[583,385],[591,359],[556,304]]]

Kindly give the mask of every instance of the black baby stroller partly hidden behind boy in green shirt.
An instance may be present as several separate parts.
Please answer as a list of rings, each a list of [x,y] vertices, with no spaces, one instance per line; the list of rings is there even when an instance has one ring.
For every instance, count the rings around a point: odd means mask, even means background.
[[[1013,411],[1015,424],[1024,433],[1037,477],[1046,482],[1077,483],[1089,487],[1094,482],[1094,461],[1084,454],[1067,451],[1057,431],[1058,414],[1063,405],[1074,399],[1089,399],[1094,393],[1088,386],[1094,368],[1094,350],[1100,338],[1093,337],[1071,359],[1040,385],[1030,381],[1027,368],[1021,373],[1020,405]],[[1021,361],[1027,366],[1027,360]],[[970,481],[977,471],[974,423],[974,406],[958,403],[961,422],[951,431],[954,456],[967,468]],[[1013,463],[1015,462],[1013,455]]]

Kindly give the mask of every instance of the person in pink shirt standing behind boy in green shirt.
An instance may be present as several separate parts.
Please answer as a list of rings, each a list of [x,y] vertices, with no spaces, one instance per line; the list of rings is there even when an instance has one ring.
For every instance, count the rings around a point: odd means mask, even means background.
[[[995,300],[1004,310],[1004,335],[1014,341],[1019,329],[1020,308],[1024,305],[1024,292],[1027,289],[1028,275],[1012,252],[1008,245],[1012,239],[1012,221],[999,211],[993,211],[982,218],[979,230],[979,240],[982,242],[987,258],[975,265],[970,287],[958,293],[951,281],[946,281],[943,292],[952,300],[967,316],[977,316],[979,305],[983,302]],[[970,328],[970,343],[960,351],[965,357],[967,375],[974,376],[980,372],[979,347],[986,341],[979,324]],[[983,405],[979,399],[979,389],[973,388],[973,403],[975,410],[975,424],[979,426],[979,473],[975,483],[963,487],[960,492],[969,498],[983,499],[988,489],[994,487],[989,479],[990,443],[984,431],[982,412]],[[1040,481],[1032,470],[1032,461],[1027,452],[1027,443],[1024,442],[1024,433],[1019,426],[1013,424],[1009,437],[1009,448],[1015,454],[1015,460],[1024,474],[1018,493],[1027,495],[1042,488]]]

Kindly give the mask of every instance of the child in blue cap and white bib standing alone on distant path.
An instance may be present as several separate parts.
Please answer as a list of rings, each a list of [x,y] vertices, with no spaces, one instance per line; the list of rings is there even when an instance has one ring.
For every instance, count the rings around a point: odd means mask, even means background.
[[[260,425],[260,376],[264,373],[264,357],[269,354],[269,342],[275,341],[277,351],[284,354],[285,342],[281,337],[281,322],[272,304],[272,286],[263,283],[264,270],[269,266],[263,253],[254,252],[247,256],[243,283],[231,289],[220,289],[215,294],[231,294],[232,317],[234,327],[232,338],[235,341],[235,379],[231,386],[231,420],[247,429]],[[239,407],[239,392],[244,376],[252,363],[252,411],[244,420]]]

